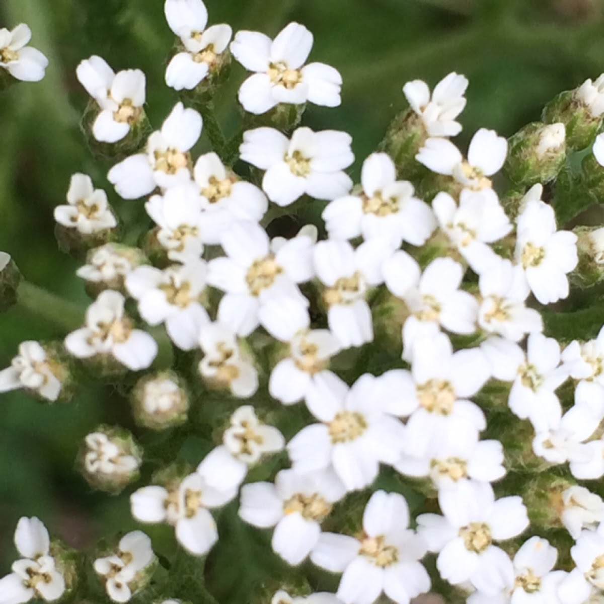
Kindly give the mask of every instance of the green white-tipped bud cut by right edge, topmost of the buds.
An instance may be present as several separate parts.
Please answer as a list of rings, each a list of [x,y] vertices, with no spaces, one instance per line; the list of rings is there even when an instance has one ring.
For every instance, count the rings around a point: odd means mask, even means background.
[[[585,149],[596,136],[602,124],[604,112],[604,89],[602,76],[595,83],[587,80],[575,90],[561,92],[543,110],[546,124],[562,122],[566,127],[568,149]]]

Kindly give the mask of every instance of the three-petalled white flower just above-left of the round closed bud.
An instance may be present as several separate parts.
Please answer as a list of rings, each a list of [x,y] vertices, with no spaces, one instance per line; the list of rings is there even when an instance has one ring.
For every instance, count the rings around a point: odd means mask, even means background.
[[[86,310],[86,327],[65,338],[66,349],[81,359],[111,355],[127,368],[146,369],[157,355],[157,343],[147,333],[133,329],[124,315],[124,297],[119,292],[101,293]]]

